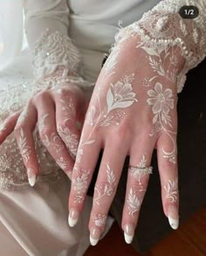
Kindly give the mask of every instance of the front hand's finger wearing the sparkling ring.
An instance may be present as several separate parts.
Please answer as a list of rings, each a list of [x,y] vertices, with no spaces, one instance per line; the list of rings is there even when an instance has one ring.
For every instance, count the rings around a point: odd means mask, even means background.
[[[127,244],[130,244],[134,238],[141,204],[148,188],[149,175],[152,169],[145,168],[150,167],[153,150],[154,140],[148,135],[135,138],[130,149],[127,190],[121,222]]]

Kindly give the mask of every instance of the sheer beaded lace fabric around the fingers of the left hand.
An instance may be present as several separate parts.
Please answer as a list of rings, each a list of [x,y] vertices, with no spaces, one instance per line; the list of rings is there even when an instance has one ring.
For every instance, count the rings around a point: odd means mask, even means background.
[[[35,93],[35,90],[35,84],[29,82],[17,86],[0,87],[0,132],[3,129],[3,121],[24,107],[28,99]],[[40,141],[37,129],[35,129],[33,136],[40,166],[37,182],[57,182],[62,175],[62,170],[59,170],[57,163]],[[21,147],[26,150],[24,138]],[[0,145],[0,168],[0,189],[11,190],[17,187],[29,186],[23,159],[13,133]]]

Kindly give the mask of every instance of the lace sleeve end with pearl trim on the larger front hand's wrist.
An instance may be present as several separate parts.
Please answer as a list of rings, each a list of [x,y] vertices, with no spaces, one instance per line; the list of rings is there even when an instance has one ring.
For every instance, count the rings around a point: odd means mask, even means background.
[[[196,6],[199,16],[184,19],[179,10],[184,5]],[[181,48],[185,65],[178,77],[177,91],[182,91],[189,69],[196,67],[206,56],[206,0],[164,0],[146,12],[141,20],[121,29],[116,42],[138,34],[145,49]]]

